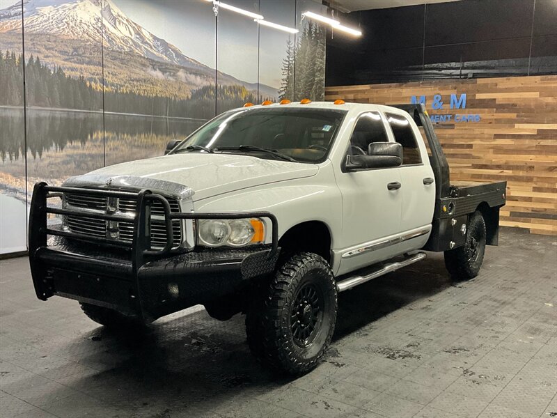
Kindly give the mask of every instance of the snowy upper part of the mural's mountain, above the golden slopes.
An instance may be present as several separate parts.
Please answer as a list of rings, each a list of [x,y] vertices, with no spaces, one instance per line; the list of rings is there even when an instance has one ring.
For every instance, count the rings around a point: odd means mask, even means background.
[[[44,33],[60,38],[80,40],[114,52],[126,52],[162,63],[179,65],[207,79],[214,77],[214,68],[189,58],[178,47],[155,36],[132,21],[111,0],[24,0],[25,33]],[[0,10],[0,33],[22,29],[22,5]],[[240,84],[256,90],[256,84],[242,82],[219,72],[220,84]],[[276,95],[276,88],[260,85],[262,95]]]

